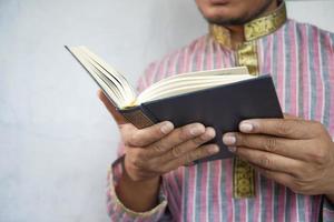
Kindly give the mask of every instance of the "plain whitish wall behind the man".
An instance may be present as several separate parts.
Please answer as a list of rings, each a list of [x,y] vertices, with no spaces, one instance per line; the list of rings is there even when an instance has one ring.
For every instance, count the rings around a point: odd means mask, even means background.
[[[334,31],[334,1],[288,12]],[[108,221],[117,128],[63,44],[89,46],[135,84],[205,32],[194,0],[0,0],[0,221]]]

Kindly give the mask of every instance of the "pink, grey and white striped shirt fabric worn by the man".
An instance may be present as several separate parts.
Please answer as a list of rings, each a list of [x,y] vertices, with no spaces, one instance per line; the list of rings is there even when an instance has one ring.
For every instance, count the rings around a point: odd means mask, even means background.
[[[259,73],[271,73],[282,109],[322,122],[334,137],[334,34],[287,20],[257,41]],[[207,34],[154,62],[139,91],[166,77],[236,65],[236,53]],[[224,101],[222,101],[224,102]],[[334,221],[324,195],[302,195],[256,173],[256,196],[233,199],[233,160],[181,167],[163,176],[160,203],[149,212],[126,209],[115,194],[121,174],[110,169],[108,211],[112,221]]]

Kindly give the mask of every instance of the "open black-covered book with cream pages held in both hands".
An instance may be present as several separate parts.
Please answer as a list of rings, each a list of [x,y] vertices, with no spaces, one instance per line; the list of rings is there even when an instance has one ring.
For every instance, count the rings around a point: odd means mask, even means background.
[[[248,74],[246,67],[206,70],[163,79],[138,95],[126,77],[86,47],[66,47],[101,88],[118,112],[138,129],[161,121],[176,128],[200,122],[216,130],[209,142],[219,152],[196,162],[225,159],[233,153],[222,135],[238,131],[238,123],[253,118],[283,118],[272,77]]]

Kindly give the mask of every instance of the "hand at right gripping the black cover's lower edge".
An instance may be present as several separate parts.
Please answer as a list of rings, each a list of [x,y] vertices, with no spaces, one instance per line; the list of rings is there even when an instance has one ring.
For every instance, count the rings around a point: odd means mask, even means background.
[[[239,130],[223,142],[240,159],[296,193],[334,202],[334,143],[321,123],[286,115],[245,120]]]

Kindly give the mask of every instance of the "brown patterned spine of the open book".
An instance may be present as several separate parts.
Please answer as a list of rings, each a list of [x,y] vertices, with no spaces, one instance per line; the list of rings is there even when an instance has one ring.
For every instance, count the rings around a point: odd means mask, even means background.
[[[156,122],[155,118],[147,113],[141,105],[119,110],[119,112],[138,129],[148,128]]]

